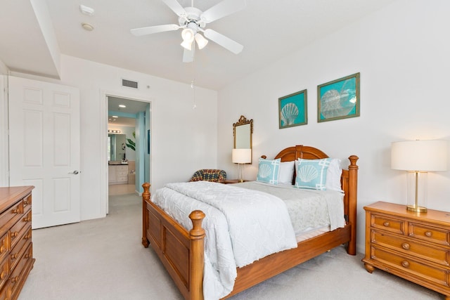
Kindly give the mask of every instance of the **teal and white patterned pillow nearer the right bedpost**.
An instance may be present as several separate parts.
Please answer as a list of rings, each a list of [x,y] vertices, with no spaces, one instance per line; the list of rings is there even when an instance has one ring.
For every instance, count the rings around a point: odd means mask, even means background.
[[[326,171],[330,158],[298,159],[295,188],[326,190]]]

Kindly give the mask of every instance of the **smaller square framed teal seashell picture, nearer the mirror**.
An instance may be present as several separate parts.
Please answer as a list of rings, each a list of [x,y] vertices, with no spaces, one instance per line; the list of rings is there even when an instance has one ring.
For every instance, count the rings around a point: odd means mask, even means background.
[[[308,124],[307,90],[278,98],[280,129]]]

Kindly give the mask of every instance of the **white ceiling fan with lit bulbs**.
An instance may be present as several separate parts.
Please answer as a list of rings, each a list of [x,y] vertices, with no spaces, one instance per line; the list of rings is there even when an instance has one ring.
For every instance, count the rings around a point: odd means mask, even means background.
[[[229,39],[229,37],[225,37],[223,34],[220,34],[212,29],[205,30],[205,26],[212,21],[224,18],[227,15],[231,15],[232,13],[236,13],[237,11],[245,8],[245,0],[224,0],[206,11],[200,11],[200,9],[195,8],[193,0],[191,1],[190,7],[183,7],[176,0],[161,1],[169,6],[169,8],[176,13],[176,15],[178,15],[179,25],[167,24],[134,28],[130,30],[131,34],[139,37],[145,34],[183,29],[181,32],[181,37],[183,38],[181,46],[184,47],[184,63],[190,63],[193,61],[195,44],[198,45],[199,49],[202,49],[207,45],[207,39],[214,41],[235,54],[238,54],[243,50],[244,46],[241,44],[238,44],[236,41],[233,41],[232,39]],[[207,39],[205,39],[200,32],[203,32]]]

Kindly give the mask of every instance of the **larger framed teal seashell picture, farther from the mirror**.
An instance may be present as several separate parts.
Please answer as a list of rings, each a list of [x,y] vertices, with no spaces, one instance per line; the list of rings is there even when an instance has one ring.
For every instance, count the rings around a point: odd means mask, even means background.
[[[317,86],[317,122],[359,117],[359,73]]]

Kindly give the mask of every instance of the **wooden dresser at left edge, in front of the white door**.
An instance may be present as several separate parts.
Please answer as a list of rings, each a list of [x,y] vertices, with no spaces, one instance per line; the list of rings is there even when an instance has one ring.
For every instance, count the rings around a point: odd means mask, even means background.
[[[33,268],[33,188],[0,188],[0,300],[17,299]]]

